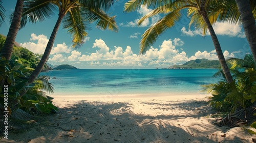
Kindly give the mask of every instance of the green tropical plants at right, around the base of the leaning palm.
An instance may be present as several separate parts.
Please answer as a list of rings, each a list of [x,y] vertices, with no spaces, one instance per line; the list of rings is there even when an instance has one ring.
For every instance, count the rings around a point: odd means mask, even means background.
[[[251,54],[244,59],[230,58],[227,62],[232,65],[233,82],[228,83],[220,69],[214,76],[222,80],[217,83],[204,85],[206,93],[211,93],[210,104],[215,108],[230,112],[231,117],[237,117],[247,123],[255,121],[253,116],[256,103],[256,64]]]

